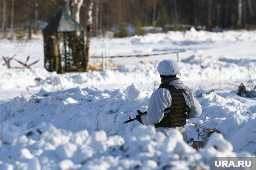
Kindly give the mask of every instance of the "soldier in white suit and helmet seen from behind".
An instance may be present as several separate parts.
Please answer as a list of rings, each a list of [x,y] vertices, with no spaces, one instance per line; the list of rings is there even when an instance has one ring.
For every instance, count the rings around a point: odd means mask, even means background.
[[[187,132],[184,127],[186,119],[196,118],[202,113],[201,106],[192,91],[184,86],[180,78],[180,67],[173,60],[164,60],[158,64],[160,87],[149,99],[147,114],[138,110],[137,120],[144,125],[155,125],[156,131],[166,136],[175,128],[179,130],[186,141]]]

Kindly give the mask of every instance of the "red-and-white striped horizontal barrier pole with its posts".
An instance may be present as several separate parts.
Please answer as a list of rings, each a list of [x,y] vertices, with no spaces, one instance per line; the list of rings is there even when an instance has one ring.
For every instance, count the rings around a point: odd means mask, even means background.
[[[102,70],[108,69],[108,59],[107,58],[122,58],[122,57],[149,57],[149,56],[157,56],[157,55],[166,55],[166,54],[173,54],[177,53],[177,62],[180,62],[180,55],[179,53],[186,52],[186,50],[181,51],[172,51],[166,53],[155,53],[155,54],[139,54],[139,55],[120,55],[120,56],[107,56],[106,51],[105,53],[102,52],[101,57],[92,56],[91,58],[102,58]]]

